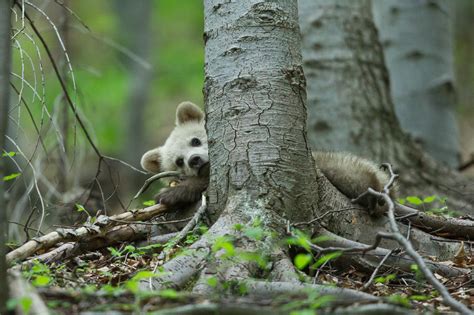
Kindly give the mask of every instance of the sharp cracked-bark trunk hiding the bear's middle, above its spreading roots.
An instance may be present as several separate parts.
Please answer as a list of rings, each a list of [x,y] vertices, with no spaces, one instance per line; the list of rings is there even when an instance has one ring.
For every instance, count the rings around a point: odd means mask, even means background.
[[[317,189],[296,2],[205,1],[204,36],[212,213],[240,199],[252,216],[308,218]]]

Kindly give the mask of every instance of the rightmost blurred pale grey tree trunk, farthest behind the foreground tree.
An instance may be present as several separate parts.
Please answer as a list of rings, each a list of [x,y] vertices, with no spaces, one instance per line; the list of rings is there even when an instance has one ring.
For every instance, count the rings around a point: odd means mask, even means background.
[[[459,166],[452,1],[373,1],[395,112],[437,161]]]

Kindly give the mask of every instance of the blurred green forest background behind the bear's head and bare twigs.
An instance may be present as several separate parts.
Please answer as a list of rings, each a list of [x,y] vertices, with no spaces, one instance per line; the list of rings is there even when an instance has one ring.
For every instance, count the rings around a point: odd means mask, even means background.
[[[33,3],[37,8],[29,7],[27,12],[44,36],[63,77],[67,78],[69,93],[100,153],[141,169],[141,155],[160,145],[172,128],[176,105],[184,100],[203,104],[201,1],[45,0]],[[453,36],[457,114],[462,161],[466,161],[474,152],[474,1],[457,0],[455,4]],[[74,14],[69,14],[65,6]],[[20,17],[13,15],[13,18],[16,18],[14,31],[21,30]],[[51,22],[63,38],[73,76]],[[29,27],[26,29],[31,33]],[[44,49],[37,42],[38,51],[33,41],[25,36],[17,39],[13,49],[13,71],[16,74],[13,83],[17,90],[22,91],[32,116],[37,120],[46,150],[38,149],[43,144],[38,144],[35,126],[24,110],[18,110],[18,104],[12,107],[11,113],[19,121],[19,126],[11,123],[9,135],[28,159],[31,160],[33,155],[44,155],[40,162],[35,162],[40,164],[33,165],[37,170],[35,176],[41,186],[39,189],[48,200],[44,207],[48,210],[48,207],[52,209],[58,204],[73,208],[77,203],[86,204],[93,199],[91,196],[94,195],[88,194],[92,187],[101,195],[102,198],[98,199],[107,201],[109,210],[127,208],[146,175],[123,163],[106,159],[106,163],[100,165],[100,185],[94,181],[98,156],[73,119],[72,111],[65,109],[61,87]],[[44,92],[40,68],[44,70]],[[19,78],[21,76],[24,81]],[[12,97],[18,98],[15,94]],[[13,103],[19,102],[21,100]],[[49,122],[46,109],[52,116]],[[68,130],[67,136],[58,136],[63,127]],[[9,145],[9,150],[18,151],[15,145]],[[63,147],[66,155],[58,153],[64,151]],[[63,166],[58,168],[58,165]],[[20,166],[25,172],[31,172],[27,163]],[[11,173],[17,172],[13,163],[10,167]],[[32,187],[25,181],[25,175],[15,178],[9,190],[10,203],[15,203],[11,208],[21,208],[12,212],[18,216],[12,218],[15,222],[24,221],[20,216],[28,215],[27,204],[35,205],[33,208],[36,209],[39,207],[37,197],[23,197],[26,196],[24,187]],[[77,187],[82,187],[82,190]],[[151,195],[149,193],[144,199]],[[78,196],[82,196],[82,202],[76,200]],[[131,205],[137,207],[141,204]],[[99,205],[88,207],[94,212],[101,208]]]

